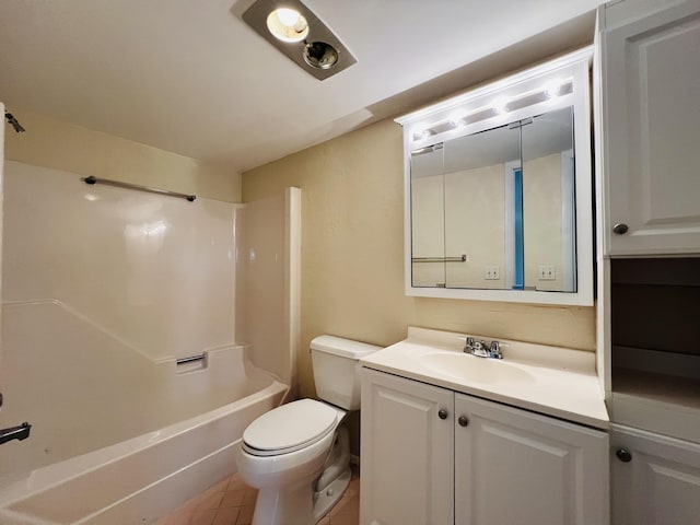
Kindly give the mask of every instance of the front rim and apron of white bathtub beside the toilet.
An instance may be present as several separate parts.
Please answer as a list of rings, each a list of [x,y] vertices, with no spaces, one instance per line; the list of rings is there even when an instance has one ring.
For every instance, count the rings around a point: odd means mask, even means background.
[[[3,525],[151,523],[235,472],[246,425],[278,406],[287,385],[28,472],[0,488]]]

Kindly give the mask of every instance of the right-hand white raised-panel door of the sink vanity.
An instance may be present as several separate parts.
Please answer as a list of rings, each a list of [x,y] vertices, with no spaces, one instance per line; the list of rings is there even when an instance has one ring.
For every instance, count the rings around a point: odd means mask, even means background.
[[[455,418],[456,524],[608,523],[607,433],[462,394]]]

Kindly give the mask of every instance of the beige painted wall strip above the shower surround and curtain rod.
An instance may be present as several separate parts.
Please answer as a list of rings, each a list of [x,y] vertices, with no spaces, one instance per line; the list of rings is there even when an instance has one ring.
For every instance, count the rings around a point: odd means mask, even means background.
[[[79,175],[112,178],[241,202],[241,175],[30,112],[14,112],[24,133],[5,133],[5,159]]]

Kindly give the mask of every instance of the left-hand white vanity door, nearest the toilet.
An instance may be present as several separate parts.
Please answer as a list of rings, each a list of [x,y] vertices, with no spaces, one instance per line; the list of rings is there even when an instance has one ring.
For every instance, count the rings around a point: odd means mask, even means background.
[[[453,405],[451,390],[362,370],[361,524],[454,523]]]

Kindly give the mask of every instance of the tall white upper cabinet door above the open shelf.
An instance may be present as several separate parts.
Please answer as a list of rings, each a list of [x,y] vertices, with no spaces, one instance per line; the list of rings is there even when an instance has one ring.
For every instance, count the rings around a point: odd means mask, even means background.
[[[606,253],[700,253],[700,3],[641,9],[602,34]]]

